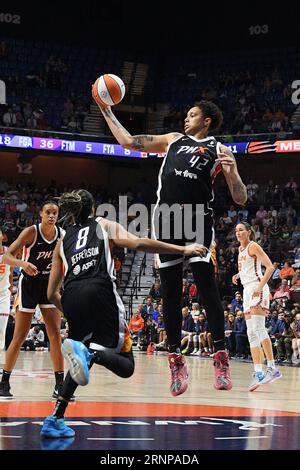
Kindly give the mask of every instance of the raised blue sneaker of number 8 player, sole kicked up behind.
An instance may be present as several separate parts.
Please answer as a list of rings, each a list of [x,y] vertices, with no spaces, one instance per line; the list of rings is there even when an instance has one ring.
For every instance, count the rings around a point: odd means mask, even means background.
[[[70,365],[72,379],[78,385],[87,385],[90,380],[89,364],[93,354],[80,341],[65,339],[61,352]]]

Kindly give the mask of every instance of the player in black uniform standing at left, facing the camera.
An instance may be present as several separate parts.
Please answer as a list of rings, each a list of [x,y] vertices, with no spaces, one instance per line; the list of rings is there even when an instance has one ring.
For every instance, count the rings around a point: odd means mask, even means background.
[[[58,396],[64,377],[64,363],[61,354],[60,323],[61,313],[47,298],[48,279],[52,263],[52,254],[62,230],[56,227],[58,205],[46,201],[41,206],[41,223],[25,228],[10,245],[3,256],[3,262],[10,266],[20,266],[19,306],[16,313],[15,331],[12,342],[6,351],[6,360],[0,383],[0,397],[11,398],[10,375],[31,327],[32,316],[39,305],[45,320],[50,341],[50,354],[55,373],[53,398]],[[23,250],[22,259],[16,256]]]

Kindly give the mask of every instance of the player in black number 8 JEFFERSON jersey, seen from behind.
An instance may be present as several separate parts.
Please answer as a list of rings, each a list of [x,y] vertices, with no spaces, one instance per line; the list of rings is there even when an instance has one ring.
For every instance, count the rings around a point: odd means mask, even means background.
[[[74,436],[75,432],[64,422],[64,413],[78,384],[88,383],[94,363],[123,378],[134,371],[131,338],[113,276],[110,243],[150,253],[199,257],[207,253],[202,245],[185,247],[138,238],[116,222],[94,219],[94,200],[85,190],[63,194],[59,205],[71,225],[54,250],[48,296],[68,320],[69,336],[62,351],[70,371],[53,415],[46,418],[41,430],[42,437],[52,438]]]

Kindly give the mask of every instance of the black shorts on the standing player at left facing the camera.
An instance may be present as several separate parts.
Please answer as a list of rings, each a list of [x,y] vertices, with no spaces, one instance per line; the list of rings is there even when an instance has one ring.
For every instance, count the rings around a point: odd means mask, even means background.
[[[36,306],[55,308],[47,297],[48,278],[30,279],[21,274],[18,286],[18,306],[23,312],[34,313]]]

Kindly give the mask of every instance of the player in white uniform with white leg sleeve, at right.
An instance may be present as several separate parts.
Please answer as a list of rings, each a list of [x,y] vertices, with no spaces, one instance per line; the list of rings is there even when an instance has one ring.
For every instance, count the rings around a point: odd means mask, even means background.
[[[272,343],[265,327],[265,316],[270,304],[267,282],[273,274],[274,266],[264,250],[255,243],[255,233],[251,225],[242,222],[236,226],[235,233],[240,243],[239,272],[232,277],[232,282],[237,284],[240,279],[244,287],[243,306],[254,363],[253,381],[248,390],[253,392],[260,385],[281,377],[281,372],[275,368]],[[266,268],[264,274],[261,272],[262,264]],[[268,361],[266,373],[263,372],[260,359],[261,346]]]

